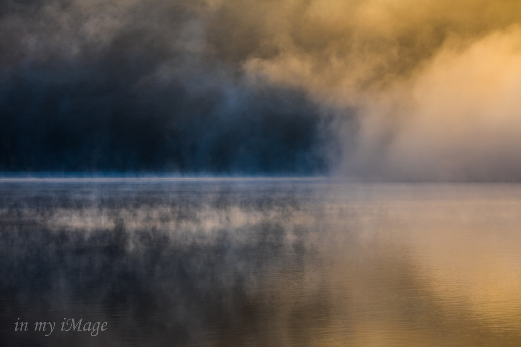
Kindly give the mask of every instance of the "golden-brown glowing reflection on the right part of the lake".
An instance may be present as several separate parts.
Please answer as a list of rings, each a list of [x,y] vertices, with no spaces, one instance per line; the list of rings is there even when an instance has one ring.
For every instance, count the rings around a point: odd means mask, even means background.
[[[520,188],[336,187],[290,222],[315,223],[317,258],[260,290],[280,303],[270,345],[519,345]]]

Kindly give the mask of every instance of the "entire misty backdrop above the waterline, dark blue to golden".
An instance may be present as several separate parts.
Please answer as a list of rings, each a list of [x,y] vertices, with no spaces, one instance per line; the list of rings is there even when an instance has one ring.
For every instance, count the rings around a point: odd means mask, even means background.
[[[4,0],[0,171],[521,177],[521,3]]]

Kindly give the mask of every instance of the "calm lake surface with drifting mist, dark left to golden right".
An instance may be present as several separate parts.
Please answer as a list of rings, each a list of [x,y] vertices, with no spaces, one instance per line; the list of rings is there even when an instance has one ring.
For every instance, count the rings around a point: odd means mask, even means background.
[[[0,323],[9,346],[519,346],[521,185],[4,178]]]

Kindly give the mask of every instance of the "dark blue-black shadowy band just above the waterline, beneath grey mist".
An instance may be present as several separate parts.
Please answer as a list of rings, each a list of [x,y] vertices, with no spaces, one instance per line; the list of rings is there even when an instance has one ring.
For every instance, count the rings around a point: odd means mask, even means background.
[[[324,124],[302,94],[239,92],[241,105],[230,108],[222,91],[194,96],[176,83],[139,91],[132,83],[110,88],[109,77],[96,73],[98,79],[78,76],[60,82],[27,73],[3,85],[0,170],[327,170],[320,148]]]

